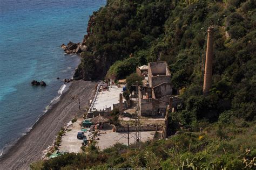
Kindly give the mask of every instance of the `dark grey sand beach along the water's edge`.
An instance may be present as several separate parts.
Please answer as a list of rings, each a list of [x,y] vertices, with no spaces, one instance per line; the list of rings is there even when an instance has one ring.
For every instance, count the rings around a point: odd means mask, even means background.
[[[29,164],[41,159],[43,151],[53,143],[60,128],[75,115],[81,117],[95,95],[97,82],[73,81],[60,100],[35,123],[28,134],[20,138],[0,158],[0,169],[29,169]],[[72,96],[75,98],[72,99]],[[78,108],[80,98],[81,111]]]

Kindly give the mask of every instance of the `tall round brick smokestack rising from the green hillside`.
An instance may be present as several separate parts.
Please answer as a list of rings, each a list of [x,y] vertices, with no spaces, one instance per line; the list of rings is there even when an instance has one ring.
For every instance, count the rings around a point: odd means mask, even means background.
[[[205,76],[203,94],[208,95],[212,87],[212,58],[213,58],[213,27],[208,27],[207,48],[205,59]]]

